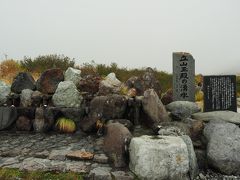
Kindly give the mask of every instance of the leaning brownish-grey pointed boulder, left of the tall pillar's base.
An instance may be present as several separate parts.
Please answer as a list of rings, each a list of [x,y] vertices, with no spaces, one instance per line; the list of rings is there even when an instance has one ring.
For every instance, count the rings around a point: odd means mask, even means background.
[[[153,89],[144,92],[142,106],[151,128],[156,129],[160,122],[169,121],[168,112]]]

